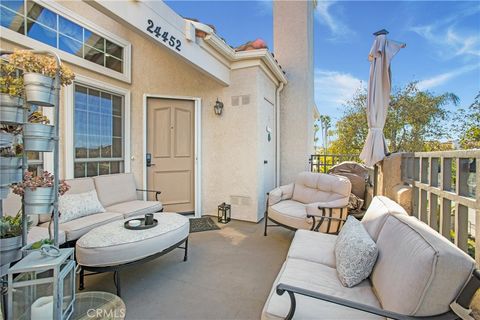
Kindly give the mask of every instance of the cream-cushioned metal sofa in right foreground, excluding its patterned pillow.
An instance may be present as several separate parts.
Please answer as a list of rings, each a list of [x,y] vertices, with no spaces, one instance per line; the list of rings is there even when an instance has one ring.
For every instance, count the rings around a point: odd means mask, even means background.
[[[298,230],[262,319],[457,319],[451,303],[469,307],[479,287],[470,256],[386,197],[373,199],[361,223],[378,248],[369,278],[344,287],[337,236]]]

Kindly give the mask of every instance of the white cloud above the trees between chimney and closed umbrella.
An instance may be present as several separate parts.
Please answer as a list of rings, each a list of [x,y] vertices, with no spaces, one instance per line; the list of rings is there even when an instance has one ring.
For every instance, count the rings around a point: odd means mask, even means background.
[[[320,113],[332,114],[352,98],[366,82],[349,73],[315,70],[315,102]]]

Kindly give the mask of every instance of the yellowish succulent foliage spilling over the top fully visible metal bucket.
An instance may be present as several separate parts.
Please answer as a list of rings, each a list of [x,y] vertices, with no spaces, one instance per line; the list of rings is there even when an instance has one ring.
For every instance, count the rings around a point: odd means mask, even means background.
[[[37,55],[28,50],[15,50],[9,55],[9,62],[15,68],[22,69],[24,72],[41,73],[48,77],[55,77],[57,71],[57,63],[55,59]],[[70,68],[63,65],[60,68],[60,84],[67,86],[72,84],[75,74]]]

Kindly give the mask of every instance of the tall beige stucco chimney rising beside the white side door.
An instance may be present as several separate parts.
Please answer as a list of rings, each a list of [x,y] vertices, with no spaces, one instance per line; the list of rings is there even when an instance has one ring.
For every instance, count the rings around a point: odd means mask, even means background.
[[[313,147],[314,1],[273,2],[274,54],[288,84],[280,96],[280,182],[308,169]]]

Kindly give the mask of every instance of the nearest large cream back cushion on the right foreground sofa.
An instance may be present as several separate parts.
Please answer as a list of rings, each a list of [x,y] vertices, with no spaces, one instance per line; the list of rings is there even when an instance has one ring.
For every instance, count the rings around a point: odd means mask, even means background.
[[[374,290],[384,309],[405,315],[449,311],[475,267],[471,257],[408,215],[388,215],[377,247]]]

